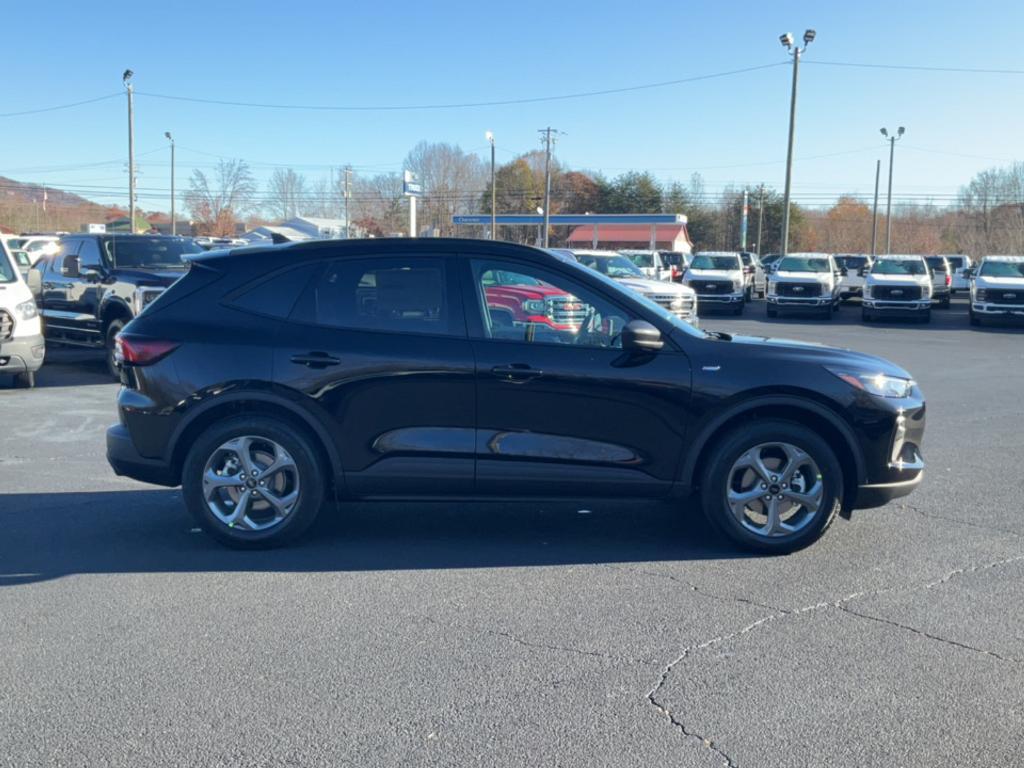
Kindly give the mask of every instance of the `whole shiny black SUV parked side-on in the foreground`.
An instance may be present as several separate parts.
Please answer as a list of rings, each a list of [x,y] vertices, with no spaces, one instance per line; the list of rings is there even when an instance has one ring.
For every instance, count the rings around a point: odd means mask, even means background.
[[[698,331],[585,266],[472,240],[214,251],[118,337],[118,474],[181,484],[221,542],[326,501],[698,493],[783,552],[920,483],[909,374]]]

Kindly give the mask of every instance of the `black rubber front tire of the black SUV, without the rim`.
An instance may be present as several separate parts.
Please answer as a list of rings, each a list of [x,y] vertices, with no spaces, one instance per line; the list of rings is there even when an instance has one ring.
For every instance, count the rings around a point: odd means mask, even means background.
[[[806,525],[796,534],[768,538],[740,524],[726,502],[725,493],[733,464],[754,446],[775,441],[804,451],[820,470],[823,488],[821,504]],[[843,467],[820,435],[796,422],[767,420],[737,427],[715,443],[700,478],[700,502],[712,525],[734,544],[754,552],[785,554],[812,544],[827,530],[842,506],[843,483]]]

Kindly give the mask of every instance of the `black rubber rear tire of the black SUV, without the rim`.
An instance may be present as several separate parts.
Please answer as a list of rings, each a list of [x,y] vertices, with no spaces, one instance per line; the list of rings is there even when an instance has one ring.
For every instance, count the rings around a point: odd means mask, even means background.
[[[292,457],[298,474],[298,500],[281,522],[265,530],[228,526],[210,510],[204,498],[207,461],[223,443],[243,435],[276,442]],[[312,524],[324,505],[327,477],[313,438],[305,430],[272,417],[239,416],[213,424],[193,443],[181,470],[181,494],[199,526],[221,544],[236,549],[269,549],[294,541]]]

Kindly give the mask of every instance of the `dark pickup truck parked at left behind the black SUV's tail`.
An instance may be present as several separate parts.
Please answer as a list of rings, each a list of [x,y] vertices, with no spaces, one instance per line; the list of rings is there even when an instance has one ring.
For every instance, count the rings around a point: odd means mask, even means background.
[[[105,348],[117,376],[114,339],[203,253],[189,238],[68,234],[31,279],[48,343]]]

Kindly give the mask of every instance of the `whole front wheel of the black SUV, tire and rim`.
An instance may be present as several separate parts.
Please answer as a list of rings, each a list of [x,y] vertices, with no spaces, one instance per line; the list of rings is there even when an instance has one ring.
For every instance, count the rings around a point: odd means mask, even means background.
[[[801,424],[744,425],[712,450],[700,496],[708,519],[739,546],[793,552],[836,518],[843,467],[828,443]]]

